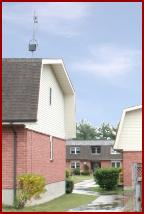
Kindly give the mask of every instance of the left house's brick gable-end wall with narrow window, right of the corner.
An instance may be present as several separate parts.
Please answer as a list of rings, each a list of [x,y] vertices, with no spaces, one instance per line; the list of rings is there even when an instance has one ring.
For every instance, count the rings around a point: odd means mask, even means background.
[[[50,161],[48,135],[27,131],[27,170],[45,176],[47,183],[65,179],[65,142],[53,137],[53,161]]]

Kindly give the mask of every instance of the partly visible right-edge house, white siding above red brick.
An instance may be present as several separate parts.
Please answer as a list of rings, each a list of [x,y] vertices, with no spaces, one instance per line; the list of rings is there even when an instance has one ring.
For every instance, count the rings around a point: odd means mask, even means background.
[[[124,109],[114,149],[123,152],[124,188],[133,186],[132,168],[142,163],[142,106]]]

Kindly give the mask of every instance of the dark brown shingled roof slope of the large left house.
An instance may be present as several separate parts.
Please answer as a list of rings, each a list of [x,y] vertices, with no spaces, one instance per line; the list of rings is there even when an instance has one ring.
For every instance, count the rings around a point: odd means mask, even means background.
[[[2,120],[37,120],[42,59],[3,59]]]

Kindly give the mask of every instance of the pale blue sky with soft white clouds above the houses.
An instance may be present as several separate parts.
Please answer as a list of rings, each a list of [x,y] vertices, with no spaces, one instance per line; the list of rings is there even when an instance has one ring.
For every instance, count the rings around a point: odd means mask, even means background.
[[[76,119],[116,125],[142,103],[141,3],[3,3],[3,57],[62,58],[76,92]]]

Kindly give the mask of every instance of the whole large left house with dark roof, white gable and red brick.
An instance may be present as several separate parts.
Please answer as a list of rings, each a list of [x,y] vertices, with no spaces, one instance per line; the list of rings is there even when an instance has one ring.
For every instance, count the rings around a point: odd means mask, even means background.
[[[3,60],[2,199],[11,205],[16,177],[43,175],[42,203],[65,193],[65,140],[75,137],[75,92],[63,61]]]

